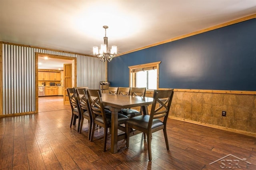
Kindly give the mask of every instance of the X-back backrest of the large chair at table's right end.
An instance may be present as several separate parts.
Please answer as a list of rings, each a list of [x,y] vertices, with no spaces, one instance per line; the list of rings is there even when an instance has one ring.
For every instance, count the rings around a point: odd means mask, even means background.
[[[153,103],[150,112],[148,128],[152,126],[153,119],[164,117],[163,123],[166,125],[168,114],[170,111],[172,97],[174,91],[170,90],[154,90]]]

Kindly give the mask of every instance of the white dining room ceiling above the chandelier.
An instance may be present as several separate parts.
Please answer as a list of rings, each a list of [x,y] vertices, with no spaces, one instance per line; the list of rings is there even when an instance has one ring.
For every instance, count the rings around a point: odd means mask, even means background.
[[[118,53],[256,13],[256,0],[1,0],[0,41],[92,55]]]

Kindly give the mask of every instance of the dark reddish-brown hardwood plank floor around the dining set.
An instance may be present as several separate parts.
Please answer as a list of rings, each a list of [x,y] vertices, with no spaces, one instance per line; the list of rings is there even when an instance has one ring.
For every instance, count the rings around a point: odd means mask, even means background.
[[[149,162],[142,134],[130,138],[129,148],[124,140],[118,142],[116,154],[110,152],[108,135],[103,152],[103,128],[93,142],[87,140],[87,121],[78,134],[76,126],[69,127],[71,109],[61,97],[39,98],[39,105],[40,113],[0,118],[0,169],[256,169],[256,138],[251,136],[169,119],[170,150],[162,131],[153,133]]]

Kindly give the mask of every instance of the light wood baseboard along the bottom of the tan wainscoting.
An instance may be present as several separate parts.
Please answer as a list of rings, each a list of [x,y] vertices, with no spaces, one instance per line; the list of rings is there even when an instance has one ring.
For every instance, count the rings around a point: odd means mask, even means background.
[[[243,131],[243,130],[237,130],[237,129],[233,129],[233,128],[226,128],[226,127],[221,127],[221,126],[217,126],[217,125],[211,125],[211,124],[208,124],[208,123],[201,123],[201,122],[197,122],[197,121],[191,121],[191,120],[183,119],[183,118],[179,118],[179,117],[169,116],[169,118],[174,119],[174,120],[178,120],[178,121],[193,123],[193,124],[201,125],[201,126],[205,126],[205,127],[211,127],[211,128],[216,128],[216,129],[220,129],[220,130],[226,130],[228,132],[234,132],[234,133],[238,133],[238,134],[244,134],[244,135],[247,135],[247,136],[256,137],[256,133],[246,132],[246,131]]]

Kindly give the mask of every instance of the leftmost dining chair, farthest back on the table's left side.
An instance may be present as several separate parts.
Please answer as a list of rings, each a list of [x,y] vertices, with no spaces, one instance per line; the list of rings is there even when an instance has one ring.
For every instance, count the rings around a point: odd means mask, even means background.
[[[77,131],[79,132],[82,116],[81,116],[81,110],[80,110],[80,107],[78,104],[76,89],[75,88],[67,88],[67,92],[68,92],[68,99],[69,99],[71,110],[72,110],[70,127],[72,127],[72,123],[73,123],[73,125],[76,125],[76,119],[78,118]]]

